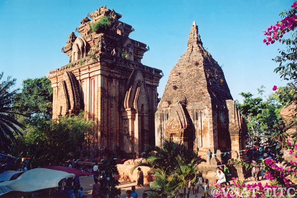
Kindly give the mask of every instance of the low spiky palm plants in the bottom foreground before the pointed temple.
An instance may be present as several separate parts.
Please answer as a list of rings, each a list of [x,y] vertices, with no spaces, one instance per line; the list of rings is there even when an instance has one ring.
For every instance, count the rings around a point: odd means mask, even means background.
[[[183,191],[186,194],[189,182],[196,181],[197,166],[203,159],[182,143],[165,140],[162,148],[147,147],[143,153],[147,158],[138,166],[148,166],[155,170],[155,180],[151,183],[149,197],[173,198]],[[189,196],[189,195],[188,195]]]

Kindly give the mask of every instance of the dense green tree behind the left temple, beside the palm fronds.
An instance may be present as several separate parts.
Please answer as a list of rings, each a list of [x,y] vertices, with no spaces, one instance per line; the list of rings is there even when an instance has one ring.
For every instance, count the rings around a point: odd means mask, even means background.
[[[52,89],[47,77],[27,79],[23,81],[23,88],[16,94],[13,104],[19,112],[26,115],[18,120],[24,125],[35,123],[39,119],[51,119]]]

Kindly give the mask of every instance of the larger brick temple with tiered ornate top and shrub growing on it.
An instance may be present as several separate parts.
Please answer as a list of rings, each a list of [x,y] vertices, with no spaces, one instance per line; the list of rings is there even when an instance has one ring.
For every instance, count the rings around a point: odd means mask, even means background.
[[[105,27],[91,27],[102,19]],[[154,145],[154,113],[161,70],[141,63],[147,45],[129,38],[121,14],[100,7],[81,21],[62,51],[69,64],[50,71],[53,118],[85,110],[94,121],[88,140],[94,147],[141,153]],[[104,22],[104,21],[103,21]]]

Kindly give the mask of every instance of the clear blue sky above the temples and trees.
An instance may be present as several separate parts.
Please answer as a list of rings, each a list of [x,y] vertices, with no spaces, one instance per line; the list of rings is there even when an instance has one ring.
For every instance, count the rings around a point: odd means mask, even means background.
[[[147,44],[142,63],[161,69],[162,95],[172,67],[187,48],[193,21],[203,43],[222,66],[234,99],[240,92],[266,94],[284,86],[271,59],[283,48],[263,44],[263,30],[280,20],[293,0],[0,0],[0,71],[23,80],[46,76],[68,63],[61,52],[80,21],[100,6],[122,13],[130,38]],[[76,35],[79,34],[76,32]]]

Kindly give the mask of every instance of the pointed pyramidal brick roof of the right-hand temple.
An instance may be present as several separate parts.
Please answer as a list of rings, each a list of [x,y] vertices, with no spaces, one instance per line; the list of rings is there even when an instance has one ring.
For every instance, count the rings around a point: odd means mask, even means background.
[[[170,72],[159,109],[183,99],[188,105],[208,101],[222,108],[226,99],[232,99],[222,68],[202,46],[195,21],[187,50]]]

